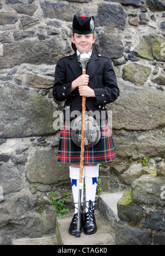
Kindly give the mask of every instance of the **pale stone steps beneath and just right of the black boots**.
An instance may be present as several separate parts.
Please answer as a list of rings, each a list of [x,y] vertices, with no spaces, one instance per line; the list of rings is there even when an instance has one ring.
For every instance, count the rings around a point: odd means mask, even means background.
[[[123,193],[108,193],[100,195],[97,209],[95,210],[97,232],[93,235],[85,235],[81,232],[80,237],[70,235],[68,232],[73,214],[58,217],[56,221],[56,237],[59,245],[113,245],[115,244],[115,223],[117,216],[117,202]]]

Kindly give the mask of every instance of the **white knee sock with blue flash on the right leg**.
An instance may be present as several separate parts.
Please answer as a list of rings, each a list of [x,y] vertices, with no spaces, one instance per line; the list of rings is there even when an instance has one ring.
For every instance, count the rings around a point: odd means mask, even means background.
[[[84,168],[85,176],[85,197],[86,197],[86,208],[87,213],[89,208],[89,200],[95,202],[96,188],[97,188],[97,177],[98,177],[98,165],[86,166]]]

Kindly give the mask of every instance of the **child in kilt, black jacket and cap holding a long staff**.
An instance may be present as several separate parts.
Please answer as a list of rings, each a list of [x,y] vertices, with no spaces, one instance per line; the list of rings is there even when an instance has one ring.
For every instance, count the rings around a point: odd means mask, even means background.
[[[56,65],[53,96],[57,101],[65,101],[64,125],[61,129],[58,148],[58,162],[70,164],[69,176],[72,184],[75,213],[69,226],[69,233],[75,235],[78,222],[78,197],[80,176],[80,146],[71,138],[70,122],[74,118],[73,111],[81,111],[82,96],[86,97],[86,111],[99,113],[101,137],[91,148],[85,148],[83,182],[85,181],[85,213],[83,210],[83,193],[81,194],[80,231],[87,235],[97,231],[95,221],[95,196],[98,177],[98,163],[116,160],[116,151],[108,126],[106,104],[119,96],[116,75],[111,59],[95,55],[92,43],[95,42],[94,17],[77,17],[73,19],[72,47],[75,53],[59,59]],[[86,74],[82,74],[78,56],[89,53]],[[69,111],[70,115],[67,115]]]

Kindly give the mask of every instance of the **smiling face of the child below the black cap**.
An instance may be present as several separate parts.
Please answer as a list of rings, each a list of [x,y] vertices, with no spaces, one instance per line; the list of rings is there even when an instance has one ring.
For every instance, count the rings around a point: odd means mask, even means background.
[[[95,39],[96,36],[93,34],[79,35],[75,33],[74,36],[71,37],[72,42],[75,43],[75,46],[80,53],[90,52],[92,43],[95,42]]]

